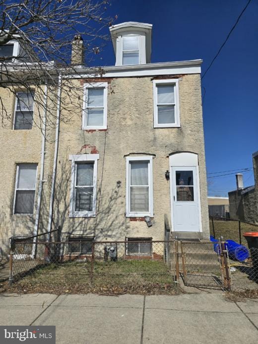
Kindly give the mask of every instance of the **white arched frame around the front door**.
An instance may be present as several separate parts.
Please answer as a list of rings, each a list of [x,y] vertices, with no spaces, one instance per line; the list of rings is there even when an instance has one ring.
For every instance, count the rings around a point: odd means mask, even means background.
[[[198,154],[191,152],[174,153],[169,156],[169,172],[170,172],[170,218],[171,218],[171,232],[174,232],[174,204],[173,204],[173,174],[172,167],[195,167],[196,170],[196,196],[197,207],[199,216],[199,231],[193,233],[202,232],[201,221],[201,205],[200,205],[200,181],[199,181],[199,166],[198,166]],[[182,231],[184,233],[184,231]]]

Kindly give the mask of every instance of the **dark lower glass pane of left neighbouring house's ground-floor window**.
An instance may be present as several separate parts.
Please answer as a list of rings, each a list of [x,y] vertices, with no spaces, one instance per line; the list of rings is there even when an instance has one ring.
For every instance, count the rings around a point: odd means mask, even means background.
[[[33,214],[35,190],[17,190],[15,198],[15,214]]]

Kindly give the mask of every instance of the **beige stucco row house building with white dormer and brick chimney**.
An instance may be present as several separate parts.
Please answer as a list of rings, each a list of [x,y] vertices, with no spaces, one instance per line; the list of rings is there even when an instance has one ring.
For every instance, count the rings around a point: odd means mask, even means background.
[[[76,37],[73,68],[42,84],[40,106],[38,88],[0,90],[2,251],[57,228],[81,253],[93,239],[163,240],[165,214],[172,236],[208,238],[202,61],[151,63],[151,31],[112,26],[116,64],[96,70]]]

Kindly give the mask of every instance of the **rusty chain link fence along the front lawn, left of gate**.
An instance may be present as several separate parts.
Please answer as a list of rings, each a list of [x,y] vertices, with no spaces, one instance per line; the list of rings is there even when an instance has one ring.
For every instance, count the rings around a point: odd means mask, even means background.
[[[12,239],[9,282],[34,291],[175,293],[173,241]]]

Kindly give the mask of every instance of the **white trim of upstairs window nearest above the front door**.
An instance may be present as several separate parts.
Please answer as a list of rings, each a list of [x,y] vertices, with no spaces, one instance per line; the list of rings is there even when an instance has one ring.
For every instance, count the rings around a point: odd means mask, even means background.
[[[157,85],[160,84],[175,84],[175,123],[158,124],[158,91]],[[180,127],[180,109],[179,109],[179,79],[165,79],[153,80],[153,113],[154,113],[154,128],[179,128]]]

